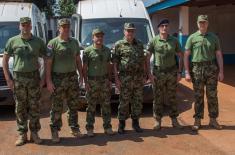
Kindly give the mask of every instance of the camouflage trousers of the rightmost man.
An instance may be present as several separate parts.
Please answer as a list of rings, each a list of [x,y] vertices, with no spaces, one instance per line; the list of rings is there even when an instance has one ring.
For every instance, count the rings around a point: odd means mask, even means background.
[[[218,110],[218,97],[217,97],[217,84],[218,84],[218,67],[213,64],[200,64],[193,63],[192,66],[192,82],[195,96],[195,115],[194,118],[202,119],[204,117],[204,88],[206,87],[206,97],[208,103],[209,117],[217,118],[219,115]]]

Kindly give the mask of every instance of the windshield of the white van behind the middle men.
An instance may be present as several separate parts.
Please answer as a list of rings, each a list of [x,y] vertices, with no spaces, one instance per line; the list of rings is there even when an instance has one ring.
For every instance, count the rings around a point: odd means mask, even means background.
[[[123,26],[126,22],[132,22],[136,27],[136,38],[146,45],[152,38],[149,22],[146,19],[133,18],[105,18],[105,19],[83,19],[81,25],[80,42],[83,46],[92,44],[92,30],[100,27],[104,33],[104,44],[111,48],[113,44],[123,39]]]

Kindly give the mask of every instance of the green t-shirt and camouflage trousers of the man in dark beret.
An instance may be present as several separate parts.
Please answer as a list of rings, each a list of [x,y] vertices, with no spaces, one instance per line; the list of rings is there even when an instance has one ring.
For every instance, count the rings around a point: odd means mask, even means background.
[[[170,106],[170,117],[176,118],[178,113],[176,102],[177,67],[175,55],[181,52],[180,44],[173,36],[162,40],[156,36],[149,42],[147,51],[154,56],[153,75],[156,77],[153,84],[153,116],[161,119],[163,116],[164,97],[167,95]]]

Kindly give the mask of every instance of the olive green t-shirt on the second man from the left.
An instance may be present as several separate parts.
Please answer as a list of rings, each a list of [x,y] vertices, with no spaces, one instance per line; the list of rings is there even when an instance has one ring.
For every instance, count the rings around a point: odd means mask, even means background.
[[[76,58],[80,55],[79,45],[76,39],[68,41],[56,37],[47,45],[47,57],[53,60],[52,72],[68,73],[77,69]]]

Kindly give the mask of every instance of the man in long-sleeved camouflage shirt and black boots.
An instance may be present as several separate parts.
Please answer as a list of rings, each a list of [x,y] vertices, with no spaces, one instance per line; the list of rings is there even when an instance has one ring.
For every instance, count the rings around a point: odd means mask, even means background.
[[[134,24],[125,23],[124,39],[117,41],[114,47],[115,83],[120,90],[118,107],[118,133],[120,134],[125,133],[125,120],[129,117],[129,104],[131,105],[132,127],[136,132],[143,132],[139,126],[139,118],[143,107],[146,58],[143,44],[134,38],[134,33]]]

